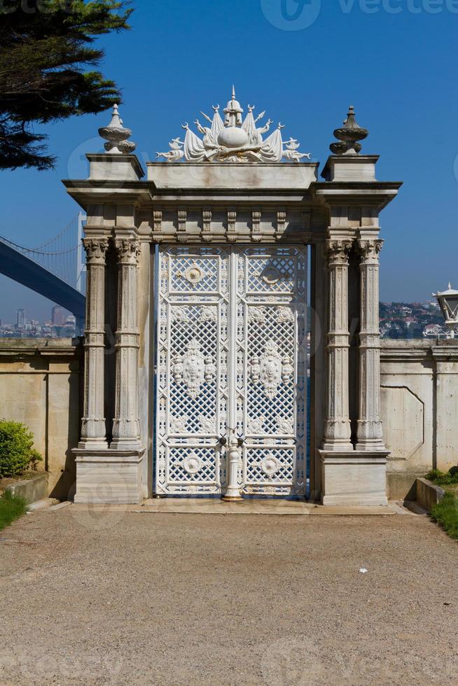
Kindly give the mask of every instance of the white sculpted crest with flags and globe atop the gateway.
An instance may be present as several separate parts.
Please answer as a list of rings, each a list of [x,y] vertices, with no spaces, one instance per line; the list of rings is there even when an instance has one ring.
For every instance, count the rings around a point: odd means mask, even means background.
[[[232,98],[224,109],[224,121],[219,113],[219,105],[214,105],[213,111],[213,118],[201,113],[210,127],[202,126],[198,119],[194,122],[203,138],[199,138],[191,131],[188,123],[183,124],[182,127],[186,130],[184,141],[179,137],[172,139],[169,142],[170,150],[167,153],[156,153],[158,158],[165,158],[167,162],[300,162],[304,158],[310,160],[311,153],[299,152],[300,143],[297,139],[282,139],[284,125],[280,123],[277,129],[264,139],[263,136],[269,132],[273,120],[268,119],[263,127],[256,127],[258,121],[265,116],[265,112],[261,112],[255,119],[254,105],[248,106],[248,114],[242,120],[243,109],[235,99],[234,87]]]

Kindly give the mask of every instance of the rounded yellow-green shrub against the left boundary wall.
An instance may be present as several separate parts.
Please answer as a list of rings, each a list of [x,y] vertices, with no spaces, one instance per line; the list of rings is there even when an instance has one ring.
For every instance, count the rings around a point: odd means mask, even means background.
[[[32,448],[34,435],[18,421],[0,420],[0,478],[15,477],[36,469],[43,458]]]

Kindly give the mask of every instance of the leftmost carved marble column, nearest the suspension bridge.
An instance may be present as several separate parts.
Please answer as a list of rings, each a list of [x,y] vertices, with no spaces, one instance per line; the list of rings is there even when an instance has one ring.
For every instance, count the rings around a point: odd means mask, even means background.
[[[84,409],[78,447],[105,449],[104,336],[105,253],[108,239],[84,238],[86,251],[86,323],[84,342]]]

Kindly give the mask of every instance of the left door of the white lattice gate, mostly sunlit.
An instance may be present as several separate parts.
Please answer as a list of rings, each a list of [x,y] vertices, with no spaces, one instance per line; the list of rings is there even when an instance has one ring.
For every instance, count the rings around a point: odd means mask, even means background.
[[[159,251],[155,492],[225,489],[230,248]]]

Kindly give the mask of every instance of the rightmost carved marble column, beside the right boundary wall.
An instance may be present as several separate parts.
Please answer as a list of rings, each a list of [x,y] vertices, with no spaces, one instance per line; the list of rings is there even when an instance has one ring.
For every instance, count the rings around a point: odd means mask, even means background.
[[[383,241],[359,239],[361,330],[357,450],[384,450],[380,420],[379,260]]]

